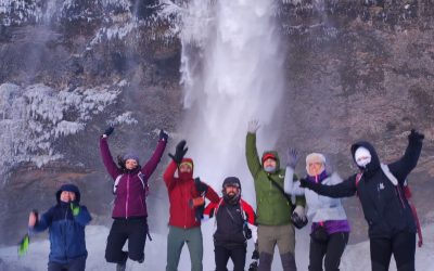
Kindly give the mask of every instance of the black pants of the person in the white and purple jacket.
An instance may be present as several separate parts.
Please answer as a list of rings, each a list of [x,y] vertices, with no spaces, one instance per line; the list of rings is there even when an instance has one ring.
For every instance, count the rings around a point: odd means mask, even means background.
[[[326,271],[337,271],[341,257],[348,243],[347,232],[336,232],[329,235],[324,243],[310,237],[309,271],[322,271],[322,259],[324,259]]]

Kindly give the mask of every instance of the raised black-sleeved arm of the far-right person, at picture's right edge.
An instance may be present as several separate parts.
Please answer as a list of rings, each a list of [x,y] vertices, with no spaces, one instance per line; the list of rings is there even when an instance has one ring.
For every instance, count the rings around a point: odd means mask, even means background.
[[[401,184],[404,184],[407,176],[418,164],[420,154],[422,152],[423,139],[424,136],[422,133],[411,130],[410,134],[408,136],[408,145],[404,156],[399,160],[388,165],[391,172]]]

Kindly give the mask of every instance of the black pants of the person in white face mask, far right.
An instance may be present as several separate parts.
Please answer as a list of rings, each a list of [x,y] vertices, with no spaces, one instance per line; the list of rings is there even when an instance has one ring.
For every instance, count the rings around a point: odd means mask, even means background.
[[[392,254],[398,271],[414,271],[416,233],[401,231],[391,238],[370,238],[372,271],[386,271]]]

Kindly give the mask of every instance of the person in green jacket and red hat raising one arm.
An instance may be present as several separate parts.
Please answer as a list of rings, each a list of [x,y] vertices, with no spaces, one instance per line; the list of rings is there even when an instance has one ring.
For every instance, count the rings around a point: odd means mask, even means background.
[[[295,231],[291,217],[293,204],[279,190],[283,189],[285,169],[280,168],[280,158],[276,151],[264,152],[261,159],[256,149],[257,120],[248,122],[246,137],[247,166],[253,176],[256,191],[256,222],[258,224],[259,271],[270,271],[276,245],[284,271],[296,270],[295,264]],[[276,183],[273,184],[272,181]],[[303,218],[304,196],[296,196],[294,212]],[[294,215],[295,215],[294,214]]]

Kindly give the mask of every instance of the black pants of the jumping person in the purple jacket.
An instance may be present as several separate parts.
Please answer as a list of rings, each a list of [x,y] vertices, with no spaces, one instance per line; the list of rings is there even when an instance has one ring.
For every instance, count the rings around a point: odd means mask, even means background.
[[[145,218],[115,219],[110,229],[105,260],[123,263],[130,258],[142,262],[144,259],[144,243],[146,242],[148,222]],[[128,253],[123,251],[128,240]]]

